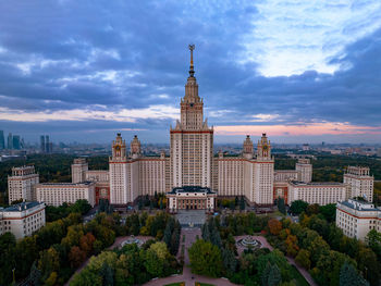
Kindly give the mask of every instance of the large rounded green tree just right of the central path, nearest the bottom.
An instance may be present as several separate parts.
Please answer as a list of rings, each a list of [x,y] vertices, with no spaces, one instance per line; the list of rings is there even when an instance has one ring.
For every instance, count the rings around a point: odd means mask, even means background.
[[[220,277],[223,270],[220,249],[209,241],[196,240],[188,249],[193,273]]]

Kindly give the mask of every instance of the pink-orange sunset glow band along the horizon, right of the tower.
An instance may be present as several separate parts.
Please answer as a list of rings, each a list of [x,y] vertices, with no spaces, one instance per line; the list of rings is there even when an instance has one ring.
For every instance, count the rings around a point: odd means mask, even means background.
[[[232,125],[214,126],[218,135],[247,135],[267,133],[271,136],[299,135],[381,135],[380,127],[356,126],[345,123],[310,123],[306,125]]]

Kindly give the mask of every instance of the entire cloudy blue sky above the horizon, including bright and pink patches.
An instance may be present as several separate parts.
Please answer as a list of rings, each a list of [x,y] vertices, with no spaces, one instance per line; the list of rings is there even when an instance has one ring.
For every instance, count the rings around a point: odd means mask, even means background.
[[[381,141],[381,1],[1,1],[0,129],[168,142],[189,52],[217,142]]]

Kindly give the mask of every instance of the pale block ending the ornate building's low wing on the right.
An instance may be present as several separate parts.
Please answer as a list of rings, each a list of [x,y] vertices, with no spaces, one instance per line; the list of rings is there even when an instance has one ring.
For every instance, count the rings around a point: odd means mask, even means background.
[[[348,166],[344,174],[344,184],[348,184],[348,198],[362,197],[373,201],[374,177],[369,174],[367,166]]]

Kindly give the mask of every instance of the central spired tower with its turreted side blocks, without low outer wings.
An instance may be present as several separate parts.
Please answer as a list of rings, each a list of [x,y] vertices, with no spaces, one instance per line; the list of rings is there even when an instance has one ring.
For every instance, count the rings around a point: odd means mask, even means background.
[[[149,158],[142,156],[137,136],[131,142],[127,156],[126,144],[118,134],[110,158],[111,203],[126,204],[138,196],[153,195],[157,191],[176,194],[175,198],[184,197],[182,204],[170,202],[169,206],[193,206],[194,201],[188,203],[186,200],[194,198],[199,189],[208,189],[201,192],[213,199],[213,194],[225,197],[245,196],[250,203],[271,204],[274,160],[271,157],[270,141],[262,134],[255,154],[253,141],[247,136],[242,156],[213,156],[213,128],[204,119],[204,100],[198,95],[193,64],[194,47],[189,46],[189,76],[185,85],[185,96],[180,102],[181,116],[175,126],[170,128],[170,157],[164,153]],[[78,172],[84,170],[77,169]],[[173,192],[175,188],[176,191]],[[182,188],[187,191],[179,191]],[[189,196],[190,190],[194,190],[194,196]],[[200,206],[208,209],[207,203],[202,202]],[[214,206],[214,201],[210,206]]]

